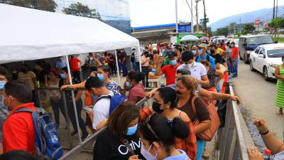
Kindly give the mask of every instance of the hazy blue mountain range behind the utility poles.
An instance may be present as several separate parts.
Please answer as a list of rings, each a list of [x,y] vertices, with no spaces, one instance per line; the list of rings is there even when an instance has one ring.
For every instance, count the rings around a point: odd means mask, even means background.
[[[284,6],[278,6],[278,17],[283,17],[284,14]],[[229,26],[229,23],[253,23],[256,18],[260,18],[261,21],[270,21],[273,15],[273,8],[271,9],[260,9],[257,11],[251,11],[244,14],[236,14],[234,16],[229,16],[223,18],[217,22],[210,24],[209,26],[212,28],[212,31],[216,31],[218,28],[222,28],[225,26]]]

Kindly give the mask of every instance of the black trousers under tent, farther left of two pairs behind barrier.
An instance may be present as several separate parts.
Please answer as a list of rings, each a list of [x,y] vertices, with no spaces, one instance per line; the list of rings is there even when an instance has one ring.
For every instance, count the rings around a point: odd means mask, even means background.
[[[54,112],[54,117],[55,117],[55,123],[57,127],[60,127],[60,111],[63,114],[65,121],[67,122],[67,117],[65,115],[65,108],[63,106],[63,101],[62,99],[60,100],[53,100],[50,99],[50,105],[53,107],[53,112]]]

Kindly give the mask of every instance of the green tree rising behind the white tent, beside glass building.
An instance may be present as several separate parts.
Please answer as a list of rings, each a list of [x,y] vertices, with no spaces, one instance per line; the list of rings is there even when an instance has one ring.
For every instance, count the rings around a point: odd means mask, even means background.
[[[62,10],[64,14],[72,14],[74,16],[84,16],[88,18],[97,18],[102,21],[101,15],[99,12],[96,12],[95,9],[89,9],[89,6],[84,6],[80,2],[77,4],[70,4],[68,8]]]

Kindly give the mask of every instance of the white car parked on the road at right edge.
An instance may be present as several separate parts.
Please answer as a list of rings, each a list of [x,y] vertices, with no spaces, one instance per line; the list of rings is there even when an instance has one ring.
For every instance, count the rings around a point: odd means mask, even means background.
[[[258,46],[251,52],[250,69],[261,72],[265,80],[275,79],[275,68],[283,64],[282,56],[284,56],[284,43]]]

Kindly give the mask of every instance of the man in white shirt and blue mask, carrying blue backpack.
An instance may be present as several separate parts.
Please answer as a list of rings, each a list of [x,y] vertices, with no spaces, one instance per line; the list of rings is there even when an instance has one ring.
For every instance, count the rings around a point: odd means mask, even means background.
[[[104,87],[104,82],[99,80],[99,78],[89,78],[85,85],[87,90],[92,93],[92,97],[98,99],[94,104],[93,115],[94,119],[92,122],[92,127],[97,129],[97,125],[102,122],[103,119],[109,118],[109,107],[111,105],[110,98],[101,98],[103,96],[107,97],[108,95],[113,96],[114,93],[107,90]]]

